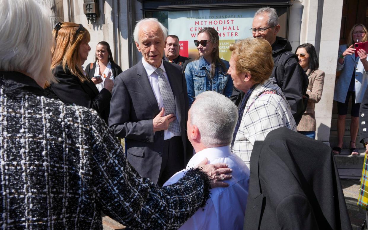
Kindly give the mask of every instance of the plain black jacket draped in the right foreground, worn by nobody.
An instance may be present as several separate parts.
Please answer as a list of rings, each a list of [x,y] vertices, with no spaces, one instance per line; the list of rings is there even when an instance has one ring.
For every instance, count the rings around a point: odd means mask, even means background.
[[[287,128],[256,141],[244,229],[349,230],[331,148]]]

